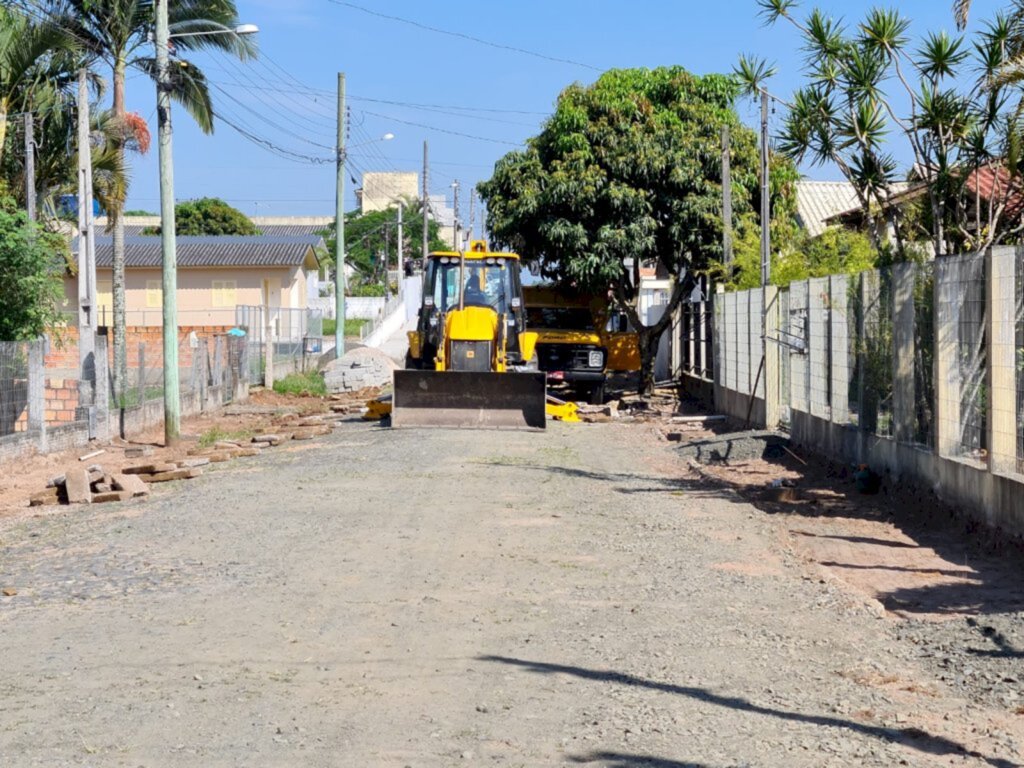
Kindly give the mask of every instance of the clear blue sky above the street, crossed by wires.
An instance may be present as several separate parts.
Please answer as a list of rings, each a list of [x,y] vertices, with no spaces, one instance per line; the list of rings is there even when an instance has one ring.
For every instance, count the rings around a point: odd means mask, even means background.
[[[353,1],[379,13],[587,67],[428,32],[332,0],[239,0],[241,20],[260,27],[261,55],[249,63],[222,54],[197,55],[215,85],[217,109],[287,153],[328,162],[282,158],[223,123],[214,135],[204,136],[178,109],[174,169],[179,200],[220,197],[250,215],[333,213],[330,147],[339,71],[348,84],[356,177],[362,170],[418,171],[427,139],[431,193],[449,197],[453,180],[470,189],[489,176],[498,158],[534,135],[562,88],[589,83],[606,69],[681,65],[700,74],[729,72],[746,52],[779,67],[772,85],[777,92],[788,94],[801,82],[794,31],[785,25],[763,27],[754,0]],[[851,1],[818,5],[848,20],[871,7]],[[898,3],[913,19],[914,34],[953,32],[950,5],[951,0]],[[1002,5],[975,0],[971,29]],[[805,3],[803,10],[810,7]],[[154,89],[145,78],[129,80],[128,104],[156,133]],[[745,122],[756,124],[753,103],[744,101],[739,110]],[[376,140],[386,132],[394,138]],[[900,144],[893,148],[906,159]],[[133,158],[132,164],[129,207],[158,210],[156,141],[148,156]],[[831,169],[805,171],[813,178],[836,177]],[[351,189],[349,183],[349,208],[354,206]]]

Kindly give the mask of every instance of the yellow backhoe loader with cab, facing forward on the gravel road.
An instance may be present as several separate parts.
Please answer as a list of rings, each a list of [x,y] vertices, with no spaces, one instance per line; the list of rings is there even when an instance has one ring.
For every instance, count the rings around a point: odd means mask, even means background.
[[[406,370],[394,372],[392,427],[544,429],[548,415],[575,420],[574,403],[549,401],[526,330],[519,257],[473,241],[468,251],[431,253],[423,302],[409,334]]]

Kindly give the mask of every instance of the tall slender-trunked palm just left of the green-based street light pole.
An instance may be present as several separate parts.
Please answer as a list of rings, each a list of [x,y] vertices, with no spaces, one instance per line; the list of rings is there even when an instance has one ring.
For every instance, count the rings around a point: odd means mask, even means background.
[[[234,35],[238,10],[234,0],[167,0],[171,33],[185,35],[174,40],[175,52],[211,48],[247,58],[255,55],[249,38]],[[114,148],[124,166],[125,146],[132,131],[126,122],[125,81],[130,69],[156,78],[156,57],[150,35],[155,24],[154,0],[38,0],[52,16],[65,23],[74,38],[96,59],[111,67],[113,116],[122,125]],[[213,34],[211,34],[213,33]],[[223,33],[223,34],[216,34]],[[202,71],[180,56],[172,65],[171,97],[180,103],[206,133],[213,132],[213,102]],[[108,209],[114,230],[114,386],[120,399],[127,383],[128,356],[125,344],[125,225],[127,185],[115,195]]]

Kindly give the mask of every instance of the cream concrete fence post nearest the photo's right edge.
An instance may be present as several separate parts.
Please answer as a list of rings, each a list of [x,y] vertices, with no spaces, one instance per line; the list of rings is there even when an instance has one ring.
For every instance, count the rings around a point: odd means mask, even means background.
[[[985,258],[986,318],[988,322],[987,384],[989,469],[999,474],[1017,471],[1017,253],[994,248]]]

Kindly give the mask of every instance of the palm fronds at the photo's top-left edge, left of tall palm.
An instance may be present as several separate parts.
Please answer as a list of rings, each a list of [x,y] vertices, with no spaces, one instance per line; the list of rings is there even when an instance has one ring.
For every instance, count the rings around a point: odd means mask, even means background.
[[[29,14],[0,7],[0,159],[7,138],[7,117],[31,103],[38,87],[65,89],[74,77],[67,54],[75,42],[58,26],[39,24]]]

